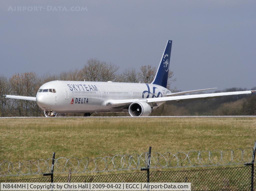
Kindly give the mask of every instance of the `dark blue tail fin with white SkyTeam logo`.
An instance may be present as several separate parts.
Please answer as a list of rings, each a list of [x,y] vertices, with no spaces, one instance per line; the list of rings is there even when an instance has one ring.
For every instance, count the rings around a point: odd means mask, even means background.
[[[158,66],[155,78],[152,84],[161,85],[163,87],[167,87],[167,80],[168,80],[168,72],[169,72],[169,65],[170,65],[170,57],[171,57],[171,50],[172,50],[172,42],[171,40],[167,41],[164,54]]]

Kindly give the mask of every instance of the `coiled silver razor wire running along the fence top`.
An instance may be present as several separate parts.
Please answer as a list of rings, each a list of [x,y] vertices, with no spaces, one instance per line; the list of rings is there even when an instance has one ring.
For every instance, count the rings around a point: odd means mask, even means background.
[[[218,166],[250,163],[253,148],[213,151],[159,152],[151,153],[151,169]],[[90,159],[88,157],[59,157],[54,161],[54,173],[86,173],[116,170],[134,170],[147,167],[148,153],[106,156]],[[0,162],[0,176],[36,175],[51,172],[52,158],[23,162]]]

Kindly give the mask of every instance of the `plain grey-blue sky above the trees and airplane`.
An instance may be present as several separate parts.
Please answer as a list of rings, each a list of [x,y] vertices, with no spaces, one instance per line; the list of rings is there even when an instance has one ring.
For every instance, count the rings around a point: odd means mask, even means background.
[[[1,0],[0,75],[58,74],[90,58],[114,63],[120,72],[157,68],[173,40],[170,69],[178,90],[252,88],[255,8],[256,1],[246,0]]]

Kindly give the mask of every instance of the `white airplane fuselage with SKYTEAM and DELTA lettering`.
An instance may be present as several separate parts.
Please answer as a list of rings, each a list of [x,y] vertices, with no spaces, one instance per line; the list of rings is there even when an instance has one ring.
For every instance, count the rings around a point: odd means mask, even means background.
[[[128,111],[126,108],[112,108],[107,100],[143,99],[165,97],[170,91],[156,84],[51,81],[39,89],[55,89],[53,92],[38,92],[36,101],[45,111],[56,113],[95,113]],[[155,109],[161,104],[152,105]]]

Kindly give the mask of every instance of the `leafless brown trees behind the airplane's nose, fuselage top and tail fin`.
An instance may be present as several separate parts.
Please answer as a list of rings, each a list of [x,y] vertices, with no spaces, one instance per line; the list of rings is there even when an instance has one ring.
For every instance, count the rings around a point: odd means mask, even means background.
[[[35,101],[7,99],[3,95],[20,95],[35,97],[39,87],[49,81],[100,81],[100,82],[134,82],[151,83],[155,77],[156,67],[145,65],[139,71],[127,68],[119,72],[119,67],[113,63],[106,63],[97,58],[87,61],[82,69],[64,71],[59,74],[45,74],[38,76],[34,72],[14,74],[11,78],[0,76],[0,117],[28,117],[44,116],[42,110]],[[169,72],[168,88],[173,78],[173,72]],[[172,91],[176,89],[173,88]]]

